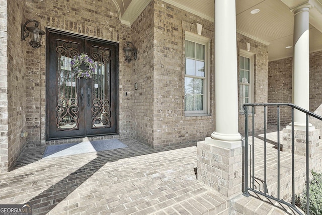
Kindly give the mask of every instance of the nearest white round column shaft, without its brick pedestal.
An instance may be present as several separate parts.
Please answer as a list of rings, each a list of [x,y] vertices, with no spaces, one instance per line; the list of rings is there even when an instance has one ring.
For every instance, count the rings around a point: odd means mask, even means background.
[[[208,144],[233,149],[238,133],[238,77],[235,0],[215,1],[215,131]]]

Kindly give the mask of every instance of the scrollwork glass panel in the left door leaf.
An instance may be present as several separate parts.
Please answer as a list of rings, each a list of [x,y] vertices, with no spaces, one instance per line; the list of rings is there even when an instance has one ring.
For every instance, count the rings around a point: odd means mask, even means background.
[[[72,74],[70,60],[77,45],[57,41],[56,130],[75,130],[79,124],[78,80]]]

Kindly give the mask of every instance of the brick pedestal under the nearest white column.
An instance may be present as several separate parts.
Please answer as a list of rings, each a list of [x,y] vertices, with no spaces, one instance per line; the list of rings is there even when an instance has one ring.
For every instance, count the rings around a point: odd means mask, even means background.
[[[242,192],[243,148],[226,149],[199,141],[197,179],[226,197]]]

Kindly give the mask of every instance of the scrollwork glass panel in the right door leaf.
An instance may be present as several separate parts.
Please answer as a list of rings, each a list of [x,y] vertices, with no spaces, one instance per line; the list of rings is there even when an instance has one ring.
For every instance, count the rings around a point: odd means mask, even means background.
[[[97,68],[92,78],[92,128],[111,127],[110,49],[93,47]]]

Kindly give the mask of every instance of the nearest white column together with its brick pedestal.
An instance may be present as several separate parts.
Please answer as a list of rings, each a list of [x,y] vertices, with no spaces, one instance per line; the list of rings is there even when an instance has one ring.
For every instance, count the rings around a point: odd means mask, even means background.
[[[235,0],[215,0],[215,131],[197,144],[197,178],[226,197],[242,191]]]

